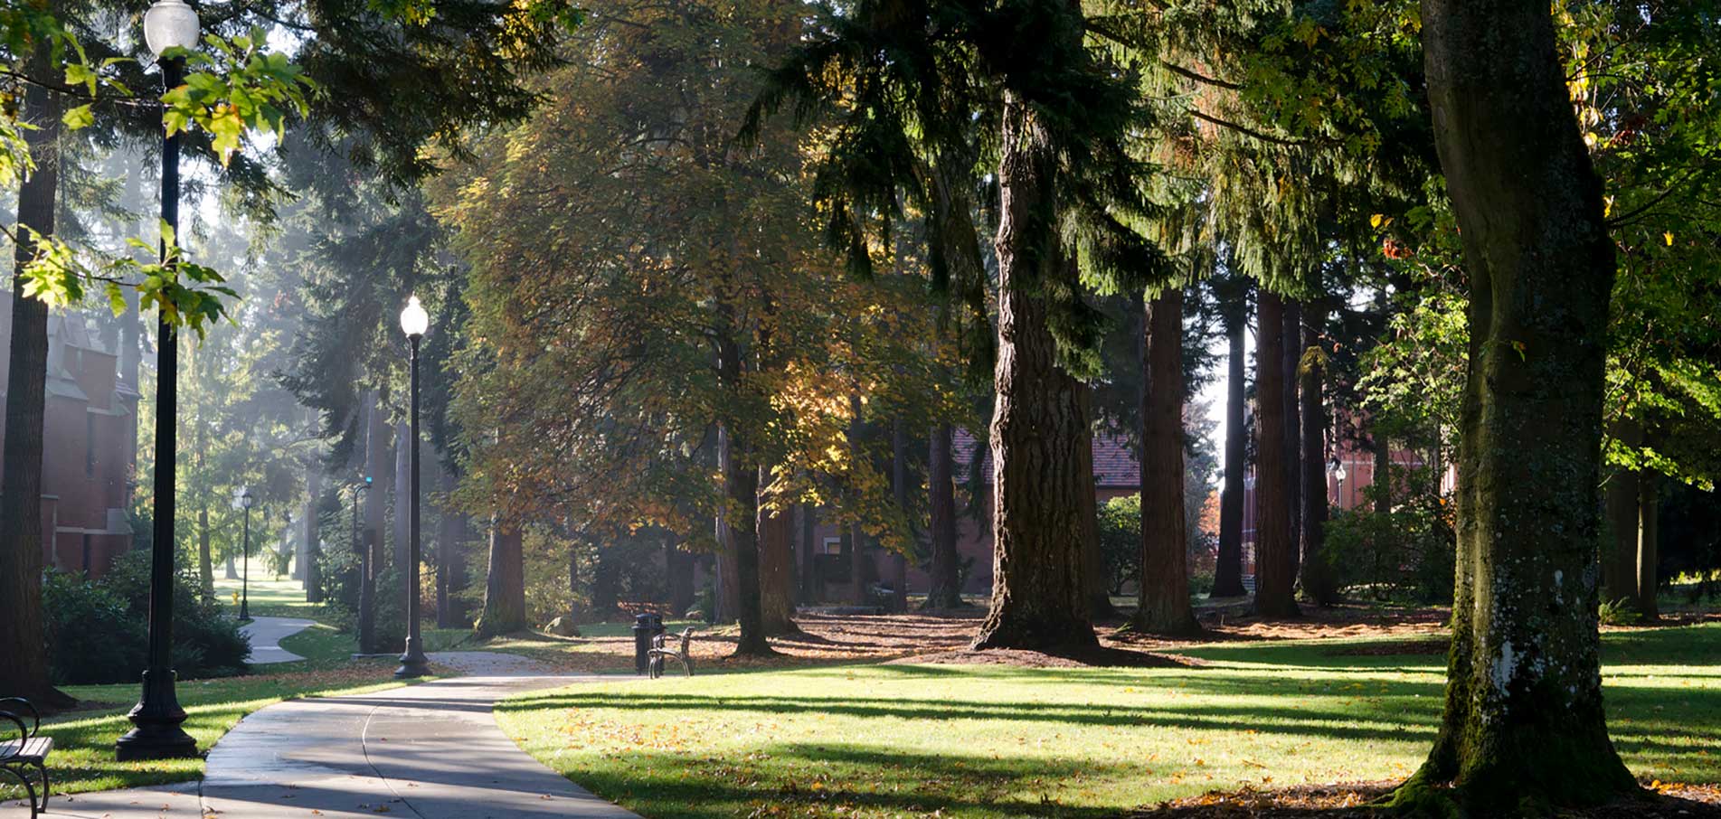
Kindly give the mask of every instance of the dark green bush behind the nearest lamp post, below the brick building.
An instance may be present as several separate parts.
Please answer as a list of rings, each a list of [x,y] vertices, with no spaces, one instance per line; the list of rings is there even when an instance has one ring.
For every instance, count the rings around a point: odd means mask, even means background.
[[[143,674],[150,623],[150,554],[133,551],[100,580],[48,571],[43,583],[48,664],[57,685],[129,683]],[[196,580],[174,578],[174,669],[182,678],[246,669],[251,644]]]

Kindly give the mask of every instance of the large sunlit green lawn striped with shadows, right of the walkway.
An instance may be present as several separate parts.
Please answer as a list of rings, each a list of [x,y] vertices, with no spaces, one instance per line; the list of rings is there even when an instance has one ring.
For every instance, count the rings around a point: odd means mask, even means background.
[[[1100,817],[1208,790],[1397,779],[1444,657],[1203,645],[1201,666],[840,666],[575,687],[497,709],[532,755],[649,817]],[[1397,644],[1404,645],[1404,644]],[[1721,783],[1721,625],[1604,638],[1638,776]],[[773,810],[774,809],[774,810]]]

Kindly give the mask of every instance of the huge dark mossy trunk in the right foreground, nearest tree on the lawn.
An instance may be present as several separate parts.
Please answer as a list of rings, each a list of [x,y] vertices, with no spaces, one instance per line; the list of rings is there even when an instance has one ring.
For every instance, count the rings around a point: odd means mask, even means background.
[[[1423,0],[1470,275],[1446,711],[1401,802],[1540,812],[1637,790],[1602,709],[1594,583],[1614,249],[1549,5]],[[1432,790],[1454,783],[1454,791]]]

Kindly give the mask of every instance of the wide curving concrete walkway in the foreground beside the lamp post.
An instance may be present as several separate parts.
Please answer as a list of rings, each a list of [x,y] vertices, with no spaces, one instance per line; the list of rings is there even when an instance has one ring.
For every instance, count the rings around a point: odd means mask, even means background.
[[[532,671],[489,652],[463,664]],[[503,659],[506,657],[506,659]],[[48,817],[626,819],[528,757],[490,717],[496,700],[599,676],[461,676],[406,688],[289,700],[244,717],[208,754],[201,783],[53,797]],[[0,819],[28,816],[9,804]]]

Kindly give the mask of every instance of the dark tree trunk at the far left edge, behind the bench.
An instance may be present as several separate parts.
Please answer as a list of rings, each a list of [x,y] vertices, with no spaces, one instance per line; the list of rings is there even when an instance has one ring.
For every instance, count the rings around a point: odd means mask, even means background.
[[[33,76],[52,74],[48,48],[29,57]],[[53,234],[60,188],[60,103],[46,89],[26,84],[22,119],[36,170],[17,193],[17,222],[41,236]],[[36,243],[19,231],[12,272],[12,348],[7,353],[5,451],[0,454],[0,697],[26,697],[43,705],[74,700],[48,678],[41,621],[41,430],[48,379],[48,305],[24,296],[24,265]]]

